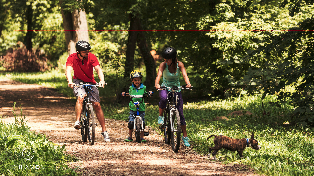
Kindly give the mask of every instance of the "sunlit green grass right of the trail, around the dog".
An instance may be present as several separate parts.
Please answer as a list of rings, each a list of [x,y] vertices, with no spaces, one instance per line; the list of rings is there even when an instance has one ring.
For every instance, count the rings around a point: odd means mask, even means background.
[[[281,105],[274,109],[268,102],[274,102],[276,96],[266,96],[261,104],[261,95],[239,97],[221,101],[202,101],[186,103],[184,115],[187,121],[187,134],[192,147],[204,156],[213,146],[214,137],[206,141],[211,134],[232,138],[250,138],[254,132],[262,148],[255,151],[247,148],[240,160],[234,153],[221,149],[217,157],[223,163],[244,163],[260,174],[266,175],[313,175],[314,169],[314,132],[313,128],[287,125],[291,122],[292,106]],[[213,121],[216,116],[227,116],[233,111],[250,111],[251,116],[228,116],[229,120]],[[263,112],[268,115],[263,116]],[[127,120],[128,107],[104,106],[106,118]],[[146,108],[146,124],[158,127],[158,106]],[[160,133],[161,134],[161,133]]]

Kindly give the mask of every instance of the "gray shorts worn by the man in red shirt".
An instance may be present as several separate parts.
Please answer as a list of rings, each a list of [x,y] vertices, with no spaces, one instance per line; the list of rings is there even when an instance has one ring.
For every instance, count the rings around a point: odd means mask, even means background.
[[[73,80],[73,83],[75,84],[79,84],[82,80],[79,79],[75,79]],[[83,84],[86,84],[86,82],[82,81]],[[91,83],[93,84],[93,83]],[[99,91],[97,89],[97,87],[90,87],[89,89],[87,89],[89,92],[89,100],[90,101],[94,101],[94,102],[100,102],[99,99]],[[78,96],[83,96],[86,91],[86,88],[84,87],[74,87],[73,88],[73,94],[76,96],[76,98],[78,98]],[[84,97],[84,96],[83,96]]]

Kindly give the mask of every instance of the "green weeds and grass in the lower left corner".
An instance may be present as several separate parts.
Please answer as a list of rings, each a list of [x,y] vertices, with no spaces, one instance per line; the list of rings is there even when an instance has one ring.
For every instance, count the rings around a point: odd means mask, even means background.
[[[22,107],[14,103],[15,122],[6,124],[0,121],[0,173],[2,175],[78,175],[75,169],[68,168],[67,162],[77,159],[66,153],[64,145],[55,143],[40,133],[30,131],[22,116]],[[20,109],[20,113],[17,113]],[[34,157],[26,160],[22,156],[25,148],[34,151]],[[17,168],[19,165],[19,168]],[[22,169],[23,165],[23,169]],[[35,166],[40,166],[39,169]]]

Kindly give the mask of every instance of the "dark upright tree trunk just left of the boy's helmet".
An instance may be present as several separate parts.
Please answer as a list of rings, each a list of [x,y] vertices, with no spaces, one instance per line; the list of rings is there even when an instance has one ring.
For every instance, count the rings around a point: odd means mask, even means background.
[[[127,39],[127,51],[125,58],[125,66],[124,66],[124,80],[120,85],[120,89],[117,89],[116,93],[116,102],[120,104],[126,104],[129,99],[122,98],[120,95],[121,92],[128,92],[130,84],[130,73],[134,70],[134,54],[136,49],[136,39],[138,36],[138,26],[140,24],[140,20],[137,15],[129,14],[130,18],[130,28],[129,28],[129,36]]]

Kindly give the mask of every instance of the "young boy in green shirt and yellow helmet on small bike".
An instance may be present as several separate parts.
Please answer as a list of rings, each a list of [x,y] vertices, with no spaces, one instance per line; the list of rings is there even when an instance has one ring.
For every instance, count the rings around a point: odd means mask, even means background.
[[[126,94],[131,94],[131,95],[143,95],[146,92],[146,86],[143,85],[143,83],[141,83],[142,81],[142,73],[139,70],[133,70],[130,73],[130,79],[133,82],[133,84],[130,86],[129,92],[127,92]],[[150,94],[152,94],[152,91],[149,91]],[[125,92],[122,92],[122,95],[124,95]],[[133,101],[141,101],[142,98],[133,98]],[[124,139],[124,141],[126,142],[132,142],[132,134],[133,134],[133,126],[134,126],[134,117],[137,116],[137,109],[134,106],[134,104],[132,103],[132,101],[130,101],[129,103],[129,108],[130,108],[130,116],[128,119],[128,128],[129,128],[129,137],[127,139]],[[142,117],[143,120],[143,131],[141,132],[141,142],[147,142],[143,137],[144,137],[144,130],[145,130],[145,103],[144,100],[141,104],[139,104],[138,106],[138,115]]]

